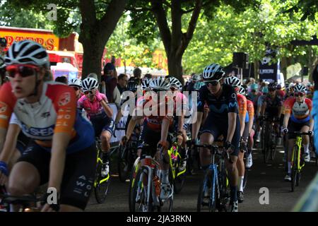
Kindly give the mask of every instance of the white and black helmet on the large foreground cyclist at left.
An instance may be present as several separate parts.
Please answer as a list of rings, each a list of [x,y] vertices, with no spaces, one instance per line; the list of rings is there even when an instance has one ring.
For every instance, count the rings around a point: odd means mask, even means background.
[[[12,64],[33,64],[49,69],[49,55],[41,44],[30,40],[13,42],[6,52],[6,66]]]

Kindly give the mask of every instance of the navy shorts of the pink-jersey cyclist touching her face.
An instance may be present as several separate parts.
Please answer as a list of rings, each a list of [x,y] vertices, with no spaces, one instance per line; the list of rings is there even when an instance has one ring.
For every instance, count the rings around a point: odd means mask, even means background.
[[[105,112],[90,117],[90,121],[93,124],[95,136],[100,136],[103,131],[109,131],[111,135],[114,133],[114,120],[107,117]]]

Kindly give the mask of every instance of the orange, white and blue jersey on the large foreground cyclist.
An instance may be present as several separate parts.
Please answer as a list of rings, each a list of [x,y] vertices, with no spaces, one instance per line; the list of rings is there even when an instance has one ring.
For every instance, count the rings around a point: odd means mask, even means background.
[[[0,128],[7,129],[12,113],[25,136],[49,148],[54,133],[69,133],[73,140],[67,153],[83,150],[94,142],[93,128],[76,111],[76,95],[72,88],[61,83],[43,84],[39,102],[28,103],[16,99],[11,83],[0,88]]]

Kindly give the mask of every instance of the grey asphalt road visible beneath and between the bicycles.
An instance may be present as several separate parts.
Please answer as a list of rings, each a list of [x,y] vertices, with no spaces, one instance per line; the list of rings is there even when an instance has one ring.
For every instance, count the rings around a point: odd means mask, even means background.
[[[264,164],[260,150],[253,150],[253,166],[248,172],[245,201],[239,204],[239,212],[281,212],[290,211],[295,206],[295,203],[297,203],[317,173],[318,167],[315,165],[314,159],[310,163],[307,163],[302,172],[300,186],[296,187],[294,192],[290,192],[290,183],[283,180],[285,174],[282,158],[281,146],[278,147],[276,159],[271,165]],[[202,174],[200,173],[187,177],[184,189],[182,189],[180,194],[175,195],[173,203],[173,210],[175,212],[196,211],[196,198],[201,177]],[[118,175],[116,173],[112,174],[112,184],[110,185],[110,192],[107,195],[105,203],[96,203],[95,196],[92,193],[86,211],[129,211],[128,187],[129,182],[120,182]],[[259,198],[263,192],[260,193],[259,189],[263,187],[269,189],[269,204],[261,205]]]

